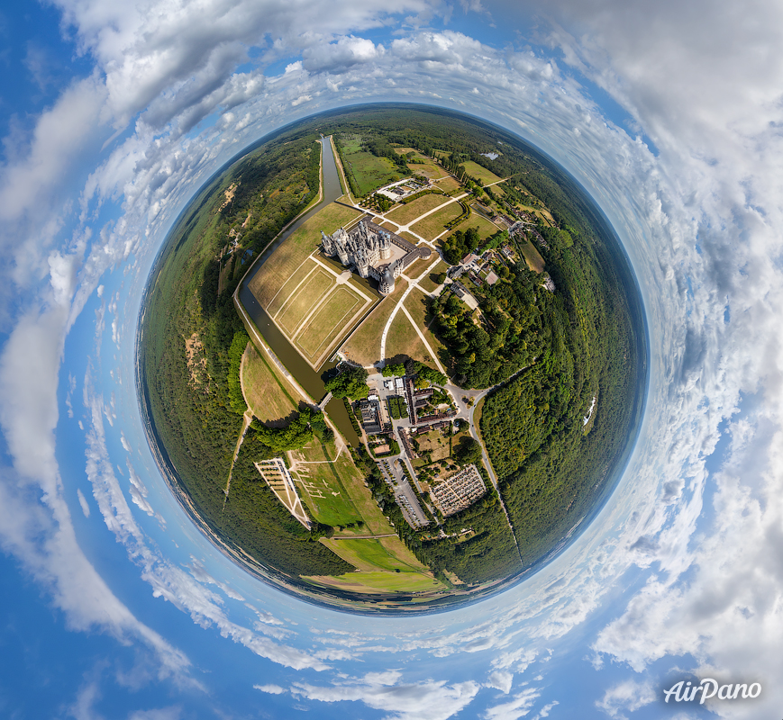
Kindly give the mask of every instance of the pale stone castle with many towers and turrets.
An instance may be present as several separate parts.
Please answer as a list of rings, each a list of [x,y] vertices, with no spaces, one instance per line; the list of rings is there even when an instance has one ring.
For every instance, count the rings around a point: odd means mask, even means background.
[[[416,247],[376,225],[367,215],[350,230],[338,228],[332,235],[321,230],[321,241],[326,255],[337,256],[342,265],[354,266],[361,277],[376,280],[382,295],[394,293],[395,278],[414,260],[432,255],[429,247]]]

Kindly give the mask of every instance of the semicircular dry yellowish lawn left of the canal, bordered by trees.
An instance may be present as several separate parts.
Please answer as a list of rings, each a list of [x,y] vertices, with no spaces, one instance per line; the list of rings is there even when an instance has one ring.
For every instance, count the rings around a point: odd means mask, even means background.
[[[252,343],[242,356],[241,381],[245,401],[253,415],[272,427],[285,425],[279,420],[296,410],[299,396],[285,377],[272,370]]]

